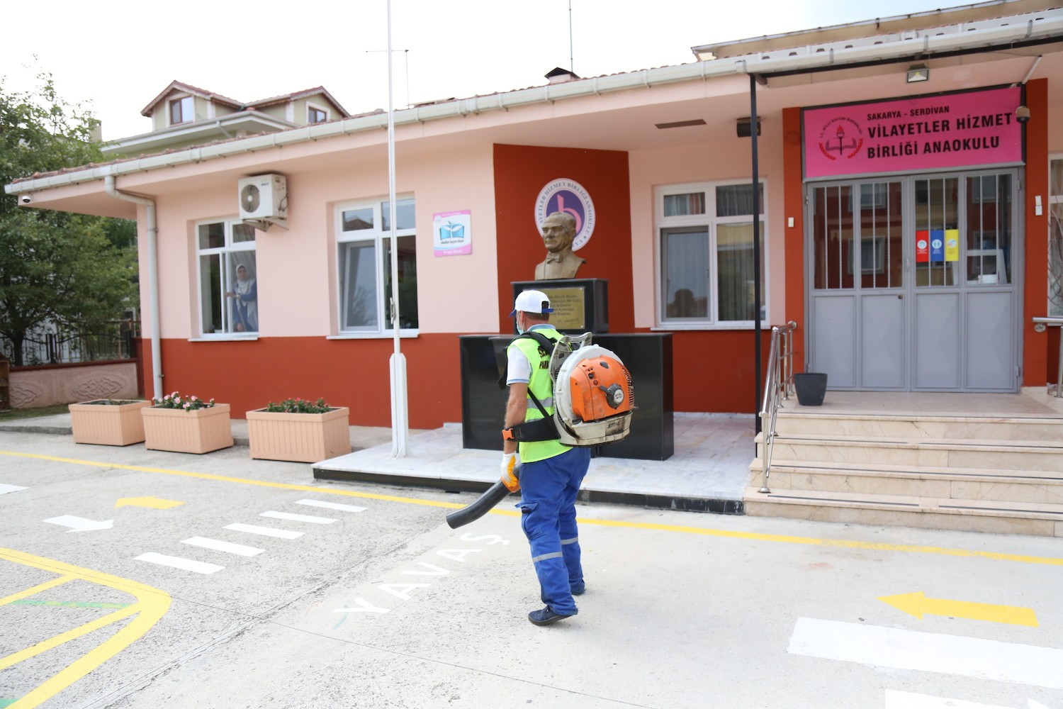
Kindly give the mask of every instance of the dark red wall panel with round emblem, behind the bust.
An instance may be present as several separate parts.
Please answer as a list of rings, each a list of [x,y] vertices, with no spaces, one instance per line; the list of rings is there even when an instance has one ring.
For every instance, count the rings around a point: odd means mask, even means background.
[[[577,253],[587,259],[580,278],[609,281],[609,331],[634,331],[631,222],[627,153],[527,146],[494,147],[494,196],[499,233],[495,326],[512,332],[513,281],[532,281],[546,255],[535,223],[535,202],[547,183],[575,180],[594,202],[594,233]],[[474,247],[475,248],[475,247]]]

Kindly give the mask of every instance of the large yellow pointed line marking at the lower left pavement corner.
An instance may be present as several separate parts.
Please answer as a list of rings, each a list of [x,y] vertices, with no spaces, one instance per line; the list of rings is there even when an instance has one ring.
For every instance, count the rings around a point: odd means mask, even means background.
[[[60,634],[53,638],[49,638],[48,640],[44,640],[32,647],[28,647],[23,651],[0,658],[0,670],[2,670],[17,664],[28,658],[40,655],[41,653],[52,649],[53,647],[57,647],[65,642],[69,642],[70,640],[87,635],[92,630],[97,630],[109,625],[111,623],[122,621],[135,614],[135,618],[133,618],[111,638],[85,653],[83,656],[38,685],[35,689],[23,695],[14,704],[9,705],[7,709],[30,709],[31,707],[36,707],[43,702],[47,702],[70,685],[99,668],[121,651],[132,645],[141,636],[144,636],[144,634],[151,629],[152,626],[154,626],[155,623],[157,623],[170,608],[170,595],[168,593],[128,578],[112,576],[111,574],[105,574],[100,571],[83,569],[73,564],[64,563],[54,559],[46,559],[39,556],[33,556],[32,554],[26,554],[24,552],[17,552],[11,548],[0,547],[0,559],[6,559],[15,563],[60,574],[60,578],[38,584],[32,589],[27,590],[32,591],[33,593],[38,593],[69,580],[82,579],[123,591],[136,597],[137,601],[136,603],[131,604],[130,606],[114,613],[109,613],[78,628]],[[27,591],[6,596],[0,601],[0,605],[3,605],[3,603],[11,603],[18,598],[23,598],[27,595],[32,595],[32,593],[27,593]]]

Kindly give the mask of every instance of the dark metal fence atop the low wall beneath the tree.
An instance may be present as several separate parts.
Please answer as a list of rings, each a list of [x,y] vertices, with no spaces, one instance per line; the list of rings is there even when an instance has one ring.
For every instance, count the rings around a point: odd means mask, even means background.
[[[138,337],[140,323],[136,320],[118,320],[105,332],[33,332],[22,340],[22,351],[15,352],[14,343],[0,335],[0,358],[13,366],[61,365],[106,359],[133,359],[133,338]]]

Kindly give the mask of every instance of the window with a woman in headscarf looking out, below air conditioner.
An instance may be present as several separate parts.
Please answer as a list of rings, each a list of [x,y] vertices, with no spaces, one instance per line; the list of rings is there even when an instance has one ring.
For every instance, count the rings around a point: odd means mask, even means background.
[[[255,230],[237,219],[196,227],[203,335],[258,332]]]

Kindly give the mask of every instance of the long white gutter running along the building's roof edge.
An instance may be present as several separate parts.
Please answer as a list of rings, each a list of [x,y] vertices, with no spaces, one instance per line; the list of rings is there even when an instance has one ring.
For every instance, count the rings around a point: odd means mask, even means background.
[[[1034,21],[1033,17],[1037,17],[1039,19]],[[725,57],[693,64],[660,67],[658,69],[643,69],[641,71],[612,74],[609,77],[596,77],[563,84],[537,86],[507,94],[477,96],[469,99],[449,101],[446,103],[396,111],[393,114],[393,120],[394,125],[408,125],[431,120],[478,115],[493,111],[508,111],[525,105],[554,103],[563,99],[596,96],[607,91],[648,88],[664,84],[696,80],[704,81],[711,78],[733,77],[744,73],[771,74],[780,71],[814,71],[832,67],[841,68],[847,64],[912,58],[916,55],[925,60],[935,53],[971,50],[993,51],[1009,47],[1014,43],[1063,37],[1063,10],[1050,10],[1033,15],[1000,18],[1000,20],[1008,23],[973,29],[967,32],[897,39],[885,41],[881,45],[842,49],[832,48],[830,51],[813,53],[806,51],[805,53],[795,55],[791,55],[793,50],[777,50],[740,58]],[[63,187],[91,182],[106,178],[107,175],[118,176],[163,167],[200,163],[217,157],[268,150],[270,148],[281,148],[351,133],[361,133],[372,130],[384,131],[387,129],[387,125],[388,114],[356,116],[342,121],[317,123],[284,131],[283,133],[272,133],[270,135],[254,136],[219,145],[189,148],[188,150],[175,153],[149,155],[132,161],[112,163],[102,167],[90,167],[83,170],[37,178],[35,180],[26,180],[5,185],[4,190],[9,195],[32,192],[50,187]]]

